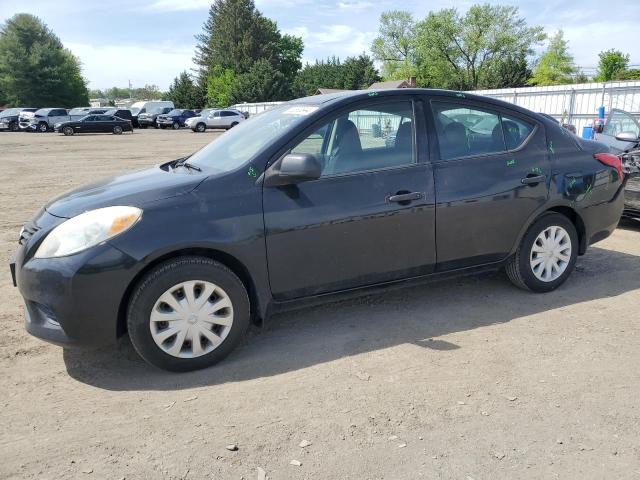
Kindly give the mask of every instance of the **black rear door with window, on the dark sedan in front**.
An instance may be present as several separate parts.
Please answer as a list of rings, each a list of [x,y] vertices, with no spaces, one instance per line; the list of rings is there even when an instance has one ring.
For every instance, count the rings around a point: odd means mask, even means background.
[[[431,101],[437,269],[506,258],[549,195],[544,127],[471,100]]]

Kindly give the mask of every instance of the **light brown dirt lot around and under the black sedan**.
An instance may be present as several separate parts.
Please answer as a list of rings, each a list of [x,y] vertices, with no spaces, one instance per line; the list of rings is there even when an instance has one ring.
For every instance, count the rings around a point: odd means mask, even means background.
[[[21,224],[215,135],[0,134],[0,478],[640,478],[638,224],[554,293],[493,274],[292,312],[192,374],[29,337]]]

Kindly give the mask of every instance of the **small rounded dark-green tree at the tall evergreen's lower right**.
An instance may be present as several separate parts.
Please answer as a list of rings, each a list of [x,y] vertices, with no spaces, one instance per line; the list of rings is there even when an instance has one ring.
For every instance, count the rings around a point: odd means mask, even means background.
[[[272,102],[286,99],[289,83],[266,59],[258,60],[247,73],[238,75],[231,87],[231,102]]]

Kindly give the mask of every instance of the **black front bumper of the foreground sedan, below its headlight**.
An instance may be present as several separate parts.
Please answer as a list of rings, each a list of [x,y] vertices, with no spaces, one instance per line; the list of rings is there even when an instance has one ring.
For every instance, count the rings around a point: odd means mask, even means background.
[[[48,213],[46,227],[20,245],[11,262],[25,301],[25,327],[62,345],[107,345],[118,335],[118,316],[136,262],[108,243],[60,258],[33,258],[38,245],[62,219]]]

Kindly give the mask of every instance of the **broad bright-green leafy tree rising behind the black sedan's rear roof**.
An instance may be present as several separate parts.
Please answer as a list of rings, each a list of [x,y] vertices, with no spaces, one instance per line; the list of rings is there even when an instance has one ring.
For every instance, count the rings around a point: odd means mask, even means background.
[[[493,87],[504,62],[521,62],[545,38],[517,7],[474,5],[430,12],[416,25],[416,62],[422,86],[475,90]],[[518,80],[519,81],[519,80]],[[507,85],[511,86],[511,85]]]

